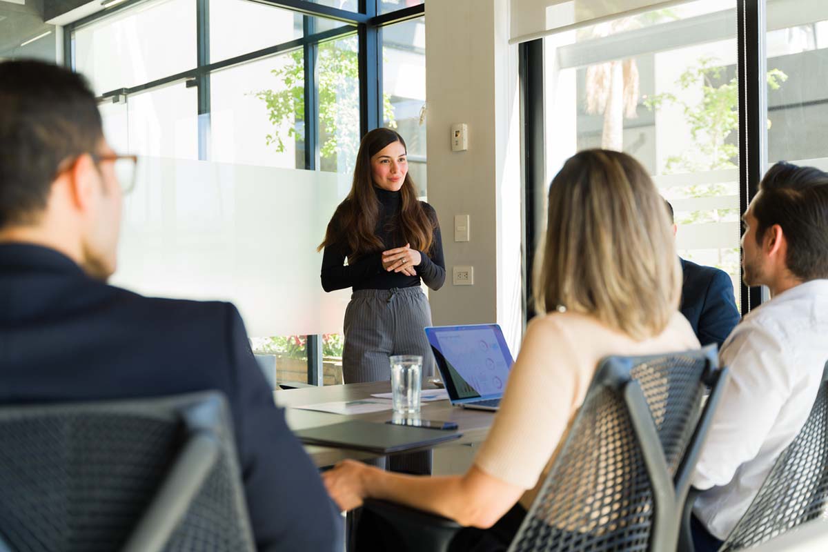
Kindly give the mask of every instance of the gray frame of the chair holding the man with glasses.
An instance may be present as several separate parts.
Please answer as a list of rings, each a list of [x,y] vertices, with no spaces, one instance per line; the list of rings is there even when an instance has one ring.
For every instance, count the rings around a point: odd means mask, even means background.
[[[233,440],[227,401],[218,391],[205,391],[180,396],[122,401],[75,402],[53,405],[0,407],[0,426],[19,420],[60,420],[65,415],[119,415],[122,418],[164,420],[183,429],[183,442],[172,463],[152,495],[152,501],[135,520],[123,552],[161,552],[172,550],[171,537],[190,510],[219,459],[229,464],[231,491],[229,505],[238,514],[238,542],[235,550],[255,550],[238,459]],[[49,444],[48,438],[46,444]],[[2,443],[0,443],[2,449]],[[6,462],[2,450],[0,461]],[[2,466],[0,468],[7,468]],[[0,501],[2,501],[0,497]],[[0,534],[0,552],[14,552]]]

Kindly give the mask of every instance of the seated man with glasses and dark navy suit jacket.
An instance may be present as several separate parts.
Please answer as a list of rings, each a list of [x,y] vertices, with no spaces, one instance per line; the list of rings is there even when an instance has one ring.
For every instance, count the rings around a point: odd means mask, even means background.
[[[223,391],[258,550],[337,549],[335,506],[235,307],[106,284],[135,162],[79,75],[0,63],[0,404]]]

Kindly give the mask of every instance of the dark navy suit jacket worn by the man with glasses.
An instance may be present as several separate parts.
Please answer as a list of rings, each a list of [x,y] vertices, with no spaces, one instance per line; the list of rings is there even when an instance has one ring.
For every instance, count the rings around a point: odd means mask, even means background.
[[[339,515],[229,303],[151,299],[0,244],[0,403],[224,391],[259,550],[336,550]],[[341,547],[340,547],[341,548]]]

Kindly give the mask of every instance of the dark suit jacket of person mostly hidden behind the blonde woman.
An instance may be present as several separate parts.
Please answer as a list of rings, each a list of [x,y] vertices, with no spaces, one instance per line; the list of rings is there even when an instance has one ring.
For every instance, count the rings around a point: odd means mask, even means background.
[[[702,346],[724,339],[739,324],[733,283],[727,272],[681,259],[681,314],[690,321]]]

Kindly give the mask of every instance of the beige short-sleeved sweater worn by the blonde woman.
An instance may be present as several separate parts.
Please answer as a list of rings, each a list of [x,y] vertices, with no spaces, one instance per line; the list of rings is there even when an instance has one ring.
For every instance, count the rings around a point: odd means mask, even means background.
[[[520,503],[528,509],[601,358],[699,347],[678,311],[661,334],[638,342],[585,314],[552,313],[533,319],[474,463],[494,478],[527,489]]]

